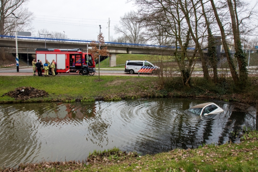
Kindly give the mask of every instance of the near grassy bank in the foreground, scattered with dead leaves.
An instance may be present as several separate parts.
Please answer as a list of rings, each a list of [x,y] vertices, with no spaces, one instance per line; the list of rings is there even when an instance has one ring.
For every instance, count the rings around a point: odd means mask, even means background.
[[[170,172],[210,172],[258,170],[258,132],[244,134],[237,144],[203,145],[197,149],[174,149],[155,155],[137,156],[117,148],[108,151],[94,151],[88,162],[41,162],[20,164],[18,169],[0,168],[1,172],[12,171],[170,171]]]

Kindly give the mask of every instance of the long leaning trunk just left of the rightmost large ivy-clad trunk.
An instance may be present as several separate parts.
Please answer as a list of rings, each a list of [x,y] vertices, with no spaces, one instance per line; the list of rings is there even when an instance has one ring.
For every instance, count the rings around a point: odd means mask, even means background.
[[[214,1],[210,0],[210,2],[211,2],[211,5],[212,5],[212,8],[213,8],[213,12],[214,12],[215,18],[216,18],[217,23],[218,23],[219,28],[220,28],[221,40],[222,40],[222,44],[223,44],[223,47],[224,47],[224,50],[225,50],[225,55],[226,55],[227,60],[228,60],[228,65],[229,65],[229,68],[230,68],[230,72],[231,72],[232,78],[234,80],[234,83],[238,84],[238,76],[237,76],[236,68],[235,68],[235,65],[233,63],[233,59],[232,59],[232,57],[230,56],[230,53],[229,53],[229,48],[228,48],[228,44],[226,42],[226,36],[225,36],[225,31],[224,31],[223,25],[222,25],[222,23],[220,21],[219,14],[217,12],[217,9],[216,9],[216,6],[214,4]]]

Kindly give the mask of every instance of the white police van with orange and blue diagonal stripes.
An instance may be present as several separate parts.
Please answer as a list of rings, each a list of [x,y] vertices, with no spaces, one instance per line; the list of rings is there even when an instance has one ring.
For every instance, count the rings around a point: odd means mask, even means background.
[[[153,70],[157,70],[159,67],[151,64],[147,60],[139,61],[139,60],[127,60],[125,63],[125,72],[129,72],[130,74],[135,73],[152,73]]]

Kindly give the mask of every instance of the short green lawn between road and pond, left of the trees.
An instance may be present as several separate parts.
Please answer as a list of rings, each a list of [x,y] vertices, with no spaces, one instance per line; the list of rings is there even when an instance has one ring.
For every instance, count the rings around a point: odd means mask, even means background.
[[[141,89],[154,88],[157,77],[131,76],[0,76],[0,96],[17,87],[34,87],[43,89],[49,96],[33,98],[29,101],[60,101],[62,97],[68,99],[82,97],[99,97],[112,94],[129,95]],[[111,96],[112,97],[112,96]],[[15,101],[9,96],[0,97],[0,103]]]

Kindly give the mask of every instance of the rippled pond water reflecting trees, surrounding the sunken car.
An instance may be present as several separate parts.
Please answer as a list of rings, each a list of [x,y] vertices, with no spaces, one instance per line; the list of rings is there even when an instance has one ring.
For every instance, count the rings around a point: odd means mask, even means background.
[[[142,99],[94,103],[0,105],[0,167],[42,160],[82,160],[114,146],[153,154],[202,143],[239,141],[231,135],[255,119],[239,104],[214,101],[225,111],[198,116],[187,110],[207,100]],[[241,106],[241,105],[240,105]]]

